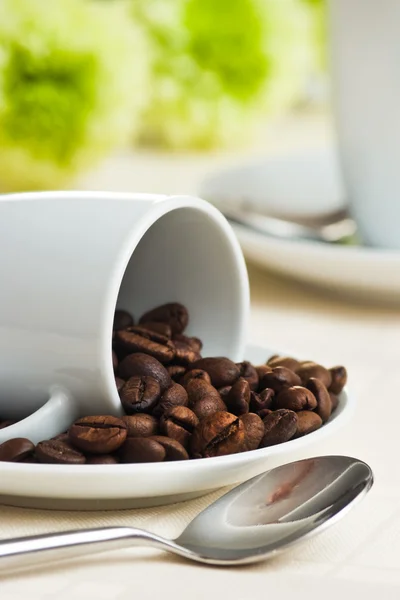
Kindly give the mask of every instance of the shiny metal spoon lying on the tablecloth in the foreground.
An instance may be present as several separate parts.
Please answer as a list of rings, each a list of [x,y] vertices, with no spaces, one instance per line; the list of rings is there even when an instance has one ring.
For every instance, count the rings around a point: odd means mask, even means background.
[[[363,497],[370,467],[322,456],[267,471],[203,510],[175,540],[130,527],[101,527],[0,542],[0,566],[24,568],[129,546],[152,546],[213,565],[261,561],[322,531]]]

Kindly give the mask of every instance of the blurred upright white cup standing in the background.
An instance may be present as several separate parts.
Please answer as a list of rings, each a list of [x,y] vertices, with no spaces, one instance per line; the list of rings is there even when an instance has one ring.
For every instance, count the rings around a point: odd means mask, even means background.
[[[331,0],[329,23],[350,210],[366,244],[400,249],[400,2]]]

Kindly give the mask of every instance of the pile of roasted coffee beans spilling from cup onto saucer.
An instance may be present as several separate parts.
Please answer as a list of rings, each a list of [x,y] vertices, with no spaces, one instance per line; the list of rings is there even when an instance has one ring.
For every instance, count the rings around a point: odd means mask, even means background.
[[[203,357],[201,340],[184,334],[188,322],[176,302],[146,312],[137,325],[117,310],[112,361],[125,416],[83,417],[36,446],[23,438],[4,442],[0,461],[93,465],[224,456],[307,435],[336,409],[345,367],[277,355],[263,365]]]

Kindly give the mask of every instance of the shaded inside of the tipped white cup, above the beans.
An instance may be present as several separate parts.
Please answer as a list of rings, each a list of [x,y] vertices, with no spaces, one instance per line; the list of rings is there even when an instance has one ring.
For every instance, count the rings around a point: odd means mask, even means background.
[[[203,340],[204,356],[242,360],[248,294],[242,261],[222,218],[199,208],[175,208],[140,239],[116,307],[137,321],[160,304],[180,302],[190,315],[185,333]]]

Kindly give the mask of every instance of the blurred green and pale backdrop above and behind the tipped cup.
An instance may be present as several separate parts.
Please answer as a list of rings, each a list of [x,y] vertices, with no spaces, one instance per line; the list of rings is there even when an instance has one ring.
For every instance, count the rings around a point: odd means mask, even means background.
[[[0,191],[195,192],[330,136],[324,0],[0,0]]]

